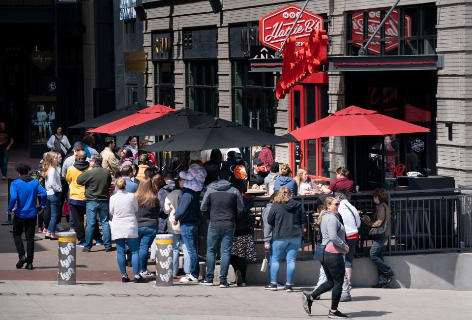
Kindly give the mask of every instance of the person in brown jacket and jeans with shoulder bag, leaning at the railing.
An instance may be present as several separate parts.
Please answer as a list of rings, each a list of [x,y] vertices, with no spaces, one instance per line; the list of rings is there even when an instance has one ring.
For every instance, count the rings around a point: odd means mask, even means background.
[[[383,262],[383,246],[390,235],[390,208],[385,204],[387,197],[387,191],[385,189],[375,189],[374,203],[376,204],[376,211],[374,221],[371,221],[368,216],[363,216],[361,218],[362,222],[371,228],[380,228],[385,221],[387,222],[385,233],[379,234],[378,237],[372,239],[369,259],[377,265],[379,271],[379,283],[372,286],[372,288],[385,288],[386,284],[390,283],[393,278],[392,268]]]

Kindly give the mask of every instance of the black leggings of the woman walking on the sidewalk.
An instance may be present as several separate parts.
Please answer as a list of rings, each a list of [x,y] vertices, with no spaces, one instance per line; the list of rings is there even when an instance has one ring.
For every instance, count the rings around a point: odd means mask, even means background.
[[[324,252],[324,262],[321,262],[326,282],[311,293],[313,298],[333,289],[331,294],[331,310],[337,310],[341,293],[343,292],[344,275],[346,268],[344,266],[343,255],[340,253]]]

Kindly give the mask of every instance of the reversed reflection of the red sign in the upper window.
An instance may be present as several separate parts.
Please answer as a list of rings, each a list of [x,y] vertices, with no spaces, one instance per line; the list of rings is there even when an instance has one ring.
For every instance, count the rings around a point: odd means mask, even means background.
[[[369,11],[367,12],[367,38],[370,38],[374,34],[377,27],[381,22],[381,11]],[[398,48],[398,10],[393,10],[390,16],[385,21],[385,53]],[[364,40],[364,12],[353,13],[351,18],[352,28],[352,40]],[[405,37],[410,37],[412,34],[412,18],[409,15],[405,15]],[[403,35],[401,35],[403,36]],[[369,44],[369,53],[372,55],[381,54],[381,38],[380,32],[376,34],[374,40]],[[391,40],[389,40],[391,38]],[[406,41],[409,44],[409,41]],[[354,46],[362,48],[364,42],[354,42]]]

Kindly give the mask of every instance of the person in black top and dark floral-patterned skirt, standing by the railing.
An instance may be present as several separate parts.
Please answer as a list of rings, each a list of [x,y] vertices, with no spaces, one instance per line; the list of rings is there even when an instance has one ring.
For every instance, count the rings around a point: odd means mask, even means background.
[[[241,183],[233,183],[233,186],[239,191],[244,203],[244,211],[236,219],[235,238],[231,248],[231,265],[235,270],[236,285],[246,285],[246,263],[247,260],[257,261],[257,252],[251,233],[251,208],[254,206],[254,200],[251,196],[244,194],[244,187]]]

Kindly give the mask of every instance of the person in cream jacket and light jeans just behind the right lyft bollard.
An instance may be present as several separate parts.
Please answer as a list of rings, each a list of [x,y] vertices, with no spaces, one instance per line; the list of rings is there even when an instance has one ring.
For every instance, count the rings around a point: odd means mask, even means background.
[[[179,178],[178,185],[182,188],[183,183],[185,180]],[[167,232],[171,233],[174,236],[174,277],[177,277],[178,273],[178,249],[180,246],[181,235],[180,235],[180,225],[174,225],[174,214],[177,211],[178,201],[182,196],[182,192],[180,190],[174,190],[169,193],[166,197],[164,202],[164,210],[166,214],[169,215],[169,219],[167,219]],[[190,256],[188,255],[187,247],[185,243],[182,241],[182,250],[183,250],[183,271],[185,274],[190,274]],[[183,278],[182,278],[183,279]]]

